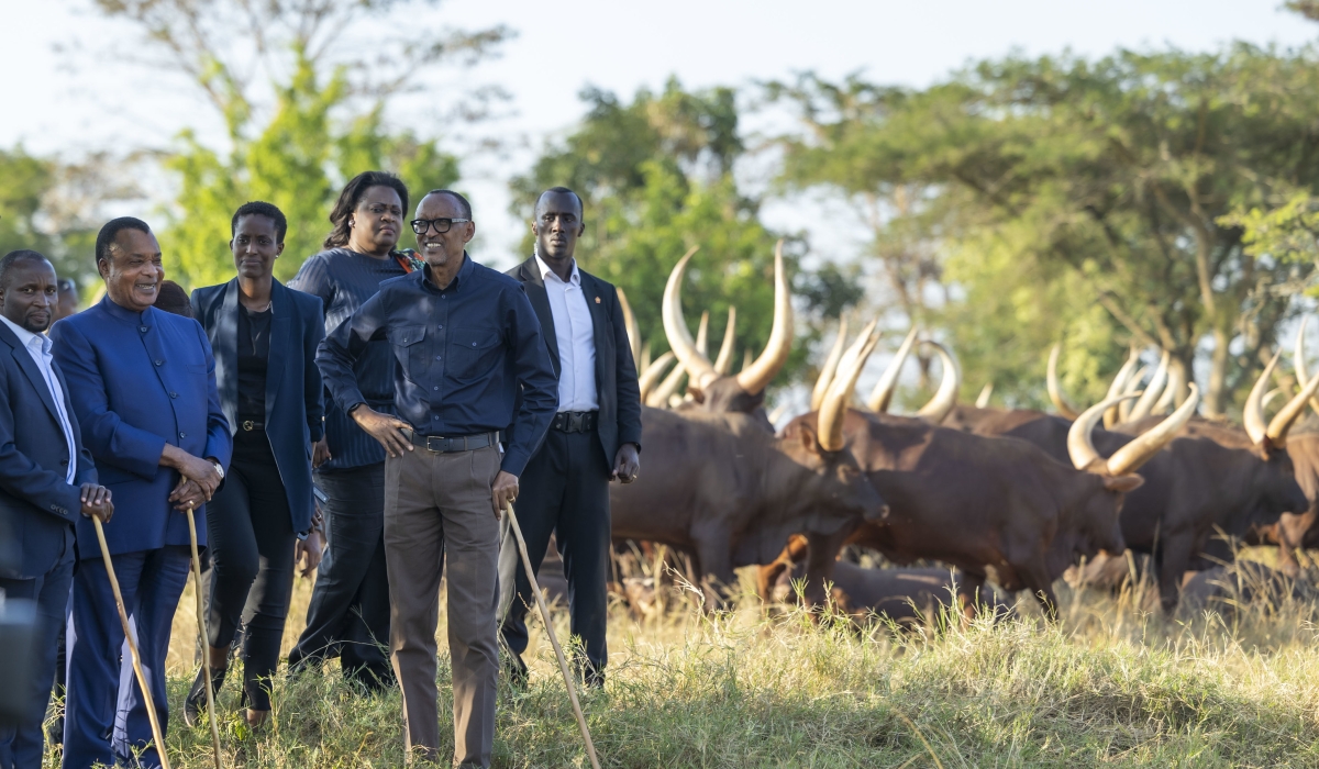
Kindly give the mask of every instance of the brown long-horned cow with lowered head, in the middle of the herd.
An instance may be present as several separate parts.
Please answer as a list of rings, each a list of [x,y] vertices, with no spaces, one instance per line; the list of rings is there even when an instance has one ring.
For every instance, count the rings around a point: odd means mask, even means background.
[[[1055,616],[1053,583],[1079,555],[1125,549],[1119,510],[1124,495],[1142,483],[1130,471],[1169,439],[1163,430],[1104,460],[1089,431],[1111,405],[1091,408],[1072,429],[1072,462],[1084,470],[1055,462],[1025,441],[849,412],[847,446],[889,513],[861,524],[847,541],[897,563],[950,563],[966,574],[963,596],[975,595],[993,571],[1004,590],[1029,588]],[[1190,409],[1179,409],[1171,425],[1188,417]],[[813,553],[828,546],[819,537],[811,541]],[[811,574],[811,583],[828,578],[827,571]]]

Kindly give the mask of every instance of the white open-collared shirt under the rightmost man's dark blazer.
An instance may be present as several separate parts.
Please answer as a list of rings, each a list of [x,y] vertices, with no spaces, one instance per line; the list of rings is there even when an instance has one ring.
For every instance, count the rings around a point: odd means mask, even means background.
[[[600,408],[595,390],[595,328],[591,307],[582,293],[576,260],[572,260],[572,274],[567,282],[539,255],[536,256],[536,266],[550,297],[554,336],[559,346],[559,410],[595,412]]]

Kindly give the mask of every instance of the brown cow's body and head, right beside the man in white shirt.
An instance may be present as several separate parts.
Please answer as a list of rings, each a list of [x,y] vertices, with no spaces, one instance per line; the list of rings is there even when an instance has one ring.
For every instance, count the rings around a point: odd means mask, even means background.
[[[836,534],[877,518],[884,500],[842,450],[842,421],[831,427],[816,415],[776,437],[749,414],[646,408],[646,472],[609,487],[613,538],[692,553],[704,582],[729,586],[735,566],[773,559],[793,533]],[[712,586],[707,595],[718,600]]]

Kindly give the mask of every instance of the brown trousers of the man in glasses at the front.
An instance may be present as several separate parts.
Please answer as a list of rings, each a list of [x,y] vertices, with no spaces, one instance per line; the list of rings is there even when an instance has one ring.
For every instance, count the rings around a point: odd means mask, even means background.
[[[454,675],[454,762],[489,766],[495,744],[500,526],[491,487],[496,447],[425,448],[385,460],[389,650],[404,694],[409,758],[439,760],[435,628],[448,561],[448,652]]]

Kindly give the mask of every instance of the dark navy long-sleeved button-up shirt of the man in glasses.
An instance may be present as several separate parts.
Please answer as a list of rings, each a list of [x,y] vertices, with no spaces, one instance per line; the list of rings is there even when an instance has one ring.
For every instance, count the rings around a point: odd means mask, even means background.
[[[385,281],[327,334],[317,352],[326,386],[347,412],[368,402],[353,363],[388,339],[394,406],[418,435],[462,437],[510,430],[503,470],[521,475],[558,406],[550,354],[522,285],[466,255],[445,289],[430,268]],[[518,385],[522,405],[514,414]],[[369,404],[368,404],[369,405]]]

